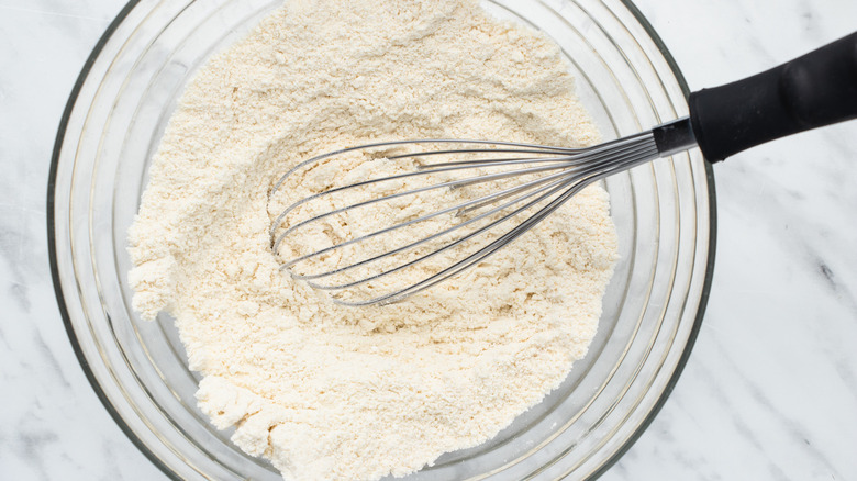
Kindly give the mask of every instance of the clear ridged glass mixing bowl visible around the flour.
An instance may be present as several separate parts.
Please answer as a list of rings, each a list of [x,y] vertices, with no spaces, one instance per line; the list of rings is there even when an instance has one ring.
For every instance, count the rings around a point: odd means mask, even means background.
[[[51,261],[69,338],[113,418],[176,479],[274,480],[196,407],[169,316],[131,309],[125,233],[183,86],[212,53],[281,0],[131,1],[87,61],[48,183]],[[496,15],[552,36],[605,139],[686,115],[687,88],[639,12],[620,0],[491,0]],[[490,441],[411,480],[583,479],[652,421],[690,353],[714,255],[714,189],[698,150],[605,181],[622,259],[598,336],[565,383]]]

